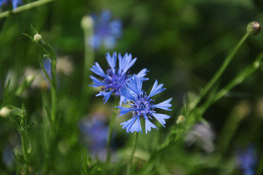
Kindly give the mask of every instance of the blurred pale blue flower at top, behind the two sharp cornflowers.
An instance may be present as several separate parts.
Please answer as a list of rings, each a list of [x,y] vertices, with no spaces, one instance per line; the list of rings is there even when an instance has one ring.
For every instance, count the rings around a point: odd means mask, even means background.
[[[117,38],[122,35],[122,23],[120,20],[111,20],[111,12],[103,10],[101,15],[94,18],[94,35],[89,39],[89,44],[93,48],[104,45],[108,49],[113,49]]]

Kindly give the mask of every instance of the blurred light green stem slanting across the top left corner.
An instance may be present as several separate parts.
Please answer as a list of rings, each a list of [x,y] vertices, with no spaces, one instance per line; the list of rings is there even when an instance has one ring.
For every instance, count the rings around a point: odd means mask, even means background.
[[[51,2],[51,1],[54,1],[54,0],[38,0],[35,2],[28,3],[28,4],[25,4],[25,5],[18,7],[16,9],[0,13],[0,18],[4,18],[4,17],[7,17],[11,14],[16,14],[16,13],[19,13],[19,12],[22,12],[25,10],[29,10],[31,8],[38,7],[40,5],[43,5],[43,4]]]

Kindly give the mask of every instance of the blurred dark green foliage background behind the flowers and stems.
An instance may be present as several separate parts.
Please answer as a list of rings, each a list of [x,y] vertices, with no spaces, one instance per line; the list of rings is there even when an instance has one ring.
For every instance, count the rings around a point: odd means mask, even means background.
[[[24,0],[24,4],[31,0]],[[4,8],[2,8],[4,9]],[[91,13],[100,14],[101,10],[112,11],[113,18],[123,24],[123,35],[117,40],[114,49],[100,48],[95,51],[94,61],[105,70],[107,67],[105,53],[131,53],[137,57],[132,71],[138,72],[147,68],[150,80],[144,82],[143,88],[149,90],[155,79],[164,83],[167,90],[156,98],[162,102],[173,97],[172,117],[167,120],[167,128],[175,123],[180,108],[184,105],[187,92],[199,93],[200,88],[208,82],[213,73],[220,67],[229,50],[245,34],[246,25],[251,21],[263,22],[263,1],[261,0],[56,0],[54,2],[23,11],[0,19],[0,99],[7,105],[21,106],[25,104],[29,121],[36,121],[29,134],[33,140],[40,137],[38,125],[41,123],[42,97],[48,90],[31,90],[27,97],[15,96],[12,88],[19,86],[19,79],[26,67],[39,69],[37,55],[44,52],[32,43],[24,34],[33,35],[32,24],[54,48],[56,55],[68,55],[74,71],[69,76],[60,77],[58,87],[59,139],[54,145],[55,173],[80,174],[81,157],[86,149],[81,141],[78,128],[79,120],[94,111],[102,111],[111,116],[113,99],[102,105],[101,97],[94,97],[96,89],[90,87],[91,99],[81,94],[84,63],[84,34],[80,27],[81,18]],[[3,10],[2,10],[3,11]],[[236,54],[233,62],[220,79],[219,88],[224,87],[238,72],[251,63],[262,52],[263,34],[249,37]],[[4,86],[10,79],[10,92],[3,101]],[[86,77],[89,82],[90,78]],[[165,167],[153,166],[150,171],[145,168],[147,157],[154,152],[157,143],[162,143],[167,128],[159,127],[148,135],[139,135],[137,151],[138,172],[146,174],[173,175],[214,175],[240,174],[234,168],[235,150],[255,145],[257,155],[263,147],[263,82],[262,72],[258,71],[230,91],[226,97],[212,105],[204,114],[215,132],[215,145],[223,131],[224,125],[235,112],[235,107],[242,104],[247,109],[246,117],[238,124],[233,138],[229,142],[224,160],[215,163],[216,158],[198,148],[188,148],[183,139],[176,146],[162,152],[159,161]],[[245,106],[243,106],[245,104]],[[131,134],[126,134],[119,123],[126,118],[117,118],[115,122],[113,150],[117,159],[129,155]],[[227,135],[227,133],[225,133]],[[41,145],[32,141],[32,154],[43,157]],[[0,157],[4,148],[12,149],[20,144],[19,135],[8,119],[0,119]],[[141,152],[140,152],[141,151]],[[128,152],[128,153],[127,153]],[[172,156],[171,156],[172,155]],[[203,156],[207,159],[205,159]],[[135,155],[136,157],[136,155]],[[128,156],[127,156],[128,158]],[[124,158],[125,159],[125,158]],[[201,161],[203,160],[203,161]],[[207,160],[207,161],[206,161]],[[41,167],[41,158],[36,167]],[[125,163],[116,163],[122,174]],[[0,159],[0,167],[13,173],[14,165],[8,167]],[[231,169],[232,168],[232,169]],[[41,168],[40,168],[41,169]],[[231,171],[230,171],[231,170]],[[230,171],[230,173],[229,173]]]

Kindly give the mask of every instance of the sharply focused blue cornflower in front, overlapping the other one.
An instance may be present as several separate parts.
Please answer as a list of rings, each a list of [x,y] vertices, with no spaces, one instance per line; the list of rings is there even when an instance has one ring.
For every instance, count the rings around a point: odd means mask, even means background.
[[[127,86],[126,86],[127,85]],[[153,123],[150,122],[149,119],[152,119],[153,116],[155,119],[157,119],[158,122],[160,122],[163,126],[165,124],[164,119],[169,119],[170,116],[166,114],[159,114],[154,111],[154,108],[160,108],[164,110],[171,110],[169,107],[171,107],[170,101],[172,98],[159,103],[155,105],[155,100],[152,100],[151,97],[164,91],[166,88],[163,88],[163,84],[158,85],[158,81],[156,80],[150,94],[147,95],[147,93],[142,90],[142,78],[137,77],[136,75],[133,75],[130,78],[130,82],[127,82],[126,85],[123,86],[123,88],[120,90],[120,95],[126,97],[130,100],[131,107],[121,107],[117,106],[120,111],[120,116],[132,111],[133,116],[130,120],[121,123],[123,125],[123,129],[126,129],[127,133],[131,131],[133,133],[134,131],[142,133],[142,127],[140,123],[140,118],[144,118],[145,120],[145,132],[147,134],[147,131],[150,131],[151,128],[158,129]],[[165,127],[165,126],[164,126]]]

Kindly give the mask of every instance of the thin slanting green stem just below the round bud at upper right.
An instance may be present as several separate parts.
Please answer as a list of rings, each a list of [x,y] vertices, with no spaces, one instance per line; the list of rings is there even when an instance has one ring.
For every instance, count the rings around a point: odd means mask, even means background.
[[[229,65],[229,63],[232,61],[233,57],[235,56],[235,54],[237,53],[238,49],[240,48],[240,46],[244,43],[244,41],[246,40],[246,38],[249,36],[248,33],[246,33],[241,40],[237,43],[237,45],[234,47],[233,51],[231,51],[228,56],[225,58],[225,61],[223,62],[223,64],[221,65],[221,67],[219,68],[219,70],[217,70],[217,72],[215,73],[215,75],[212,77],[212,79],[207,83],[207,85],[205,86],[205,88],[203,89],[202,95],[201,97],[204,97],[207,92],[210,90],[210,88],[215,84],[215,82],[219,79],[219,77],[222,75],[222,73],[225,71],[225,69],[227,68],[227,66]]]

